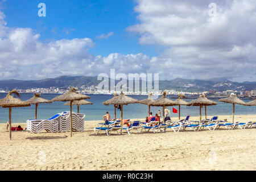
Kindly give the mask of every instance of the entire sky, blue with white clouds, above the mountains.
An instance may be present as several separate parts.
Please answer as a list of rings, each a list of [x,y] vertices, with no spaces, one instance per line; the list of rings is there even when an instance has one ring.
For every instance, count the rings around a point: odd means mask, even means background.
[[[0,79],[115,69],[256,81],[255,12],[255,0],[0,0]]]

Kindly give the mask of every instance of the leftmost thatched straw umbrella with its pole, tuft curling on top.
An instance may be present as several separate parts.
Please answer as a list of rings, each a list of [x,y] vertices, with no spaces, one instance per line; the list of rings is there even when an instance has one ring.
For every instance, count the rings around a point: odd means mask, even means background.
[[[0,106],[9,107],[9,138],[11,140],[11,107],[26,107],[30,106],[28,102],[20,100],[20,98],[15,98],[11,96],[11,94],[16,94],[16,96],[20,97],[19,93],[16,90],[12,90],[7,94],[5,98],[0,101]]]

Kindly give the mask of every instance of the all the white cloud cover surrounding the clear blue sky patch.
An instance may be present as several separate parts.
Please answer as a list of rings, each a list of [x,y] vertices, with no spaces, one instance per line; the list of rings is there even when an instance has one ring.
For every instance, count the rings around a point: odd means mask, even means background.
[[[211,19],[208,5],[217,4]],[[138,54],[94,56],[92,39],[48,43],[31,28],[10,28],[0,11],[0,78],[36,80],[61,75],[159,73],[160,79],[228,77],[255,81],[256,5],[253,0],[138,0],[141,23],[127,30],[139,43],[167,47],[159,56]],[[113,32],[98,36],[106,39]]]

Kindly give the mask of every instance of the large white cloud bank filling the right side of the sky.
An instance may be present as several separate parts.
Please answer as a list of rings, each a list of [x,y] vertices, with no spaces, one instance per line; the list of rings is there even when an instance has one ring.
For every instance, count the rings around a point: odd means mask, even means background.
[[[209,16],[209,3],[217,14]],[[167,79],[229,77],[254,80],[256,4],[254,0],[138,0],[141,23],[127,28],[141,44],[168,46],[151,60]]]

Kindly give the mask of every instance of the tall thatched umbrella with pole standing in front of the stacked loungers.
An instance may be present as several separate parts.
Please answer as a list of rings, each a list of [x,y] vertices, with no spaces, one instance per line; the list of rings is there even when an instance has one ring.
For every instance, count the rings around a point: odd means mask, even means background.
[[[52,99],[52,101],[70,101],[70,133],[72,137],[72,102],[76,100],[83,100],[86,98],[90,98],[89,96],[86,96],[84,94],[76,93],[76,88],[71,87],[71,89],[64,94],[61,94],[60,96],[57,96]]]

